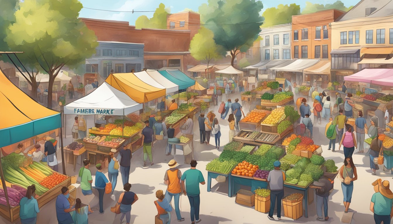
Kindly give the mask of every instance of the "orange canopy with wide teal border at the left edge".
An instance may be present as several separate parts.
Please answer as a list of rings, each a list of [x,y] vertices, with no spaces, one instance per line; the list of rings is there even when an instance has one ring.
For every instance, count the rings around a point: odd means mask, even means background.
[[[0,147],[61,127],[60,113],[35,102],[0,70]]]

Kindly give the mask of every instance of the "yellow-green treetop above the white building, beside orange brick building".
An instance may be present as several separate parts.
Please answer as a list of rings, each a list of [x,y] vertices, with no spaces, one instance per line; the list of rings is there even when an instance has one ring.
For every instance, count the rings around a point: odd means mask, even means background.
[[[300,5],[295,3],[290,5],[277,5],[277,7],[271,7],[266,9],[262,16],[265,21],[262,27],[269,27],[273,25],[280,25],[292,22],[292,16],[300,14]]]

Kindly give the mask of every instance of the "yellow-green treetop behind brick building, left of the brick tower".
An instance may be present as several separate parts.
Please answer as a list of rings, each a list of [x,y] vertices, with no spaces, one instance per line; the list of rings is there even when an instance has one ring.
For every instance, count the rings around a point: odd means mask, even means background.
[[[167,29],[168,14],[169,9],[166,9],[165,5],[160,3],[152,18],[147,18],[145,15],[139,16],[135,21],[135,28]]]

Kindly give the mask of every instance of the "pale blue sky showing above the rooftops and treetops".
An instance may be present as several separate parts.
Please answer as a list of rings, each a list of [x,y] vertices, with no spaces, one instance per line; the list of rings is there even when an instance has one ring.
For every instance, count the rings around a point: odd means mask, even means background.
[[[201,4],[207,3],[208,0],[80,0],[84,7],[93,9],[105,9],[112,11],[154,11],[160,3],[165,4],[165,7],[170,9],[171,13],[178,13],[184,11],[184,9],[191,9],[198,11],[198,7]],[[345,6],[356,5],[360,0],[341,0]],[[296,3],[300,5],[301,9],[305,7],[305,2],[312,2],[317,4],[332,4],[336,0],[262,0],[263,8],[276,7],[279,4],[292,4]],[[119,13],[119,12],[107,12],[97,11],[92,9],[83,8],[80,12],[79,17],[83,18],[95,18],[102,20],[118,20],[128,21],[130,25],[135,25],[135,20],[141,16],[146,15],[151,18],[153,12],[135,12],[132,13]]]

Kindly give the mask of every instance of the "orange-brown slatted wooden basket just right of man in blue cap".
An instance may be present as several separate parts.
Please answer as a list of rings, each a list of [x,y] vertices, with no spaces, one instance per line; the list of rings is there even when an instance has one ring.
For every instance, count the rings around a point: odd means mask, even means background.
[[[283,199],[284,216],[290,219],[299,219],[303,216],[303,195],[294,193]]]

